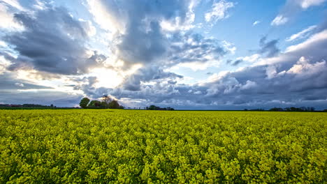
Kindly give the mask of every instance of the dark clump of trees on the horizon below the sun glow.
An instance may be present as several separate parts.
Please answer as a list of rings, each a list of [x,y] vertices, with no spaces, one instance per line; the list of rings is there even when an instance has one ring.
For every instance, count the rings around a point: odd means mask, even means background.
[[[109,95],[103,95],[101,101],[89,100],[89,98],[82,98],[80,100],[80,107],[83,109],[124,109],[122,105],[119,105],[117,100],[113,100]]]

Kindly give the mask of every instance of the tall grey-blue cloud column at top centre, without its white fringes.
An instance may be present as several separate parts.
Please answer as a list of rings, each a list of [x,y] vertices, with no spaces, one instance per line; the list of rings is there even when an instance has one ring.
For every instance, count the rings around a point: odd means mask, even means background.
[[[108,13],[126,30],[117,36],[119,58],[126,64],[159,61],[168,49],[168,38],[159,25],[162,20],[185,22],[189,1],[102,0]]]

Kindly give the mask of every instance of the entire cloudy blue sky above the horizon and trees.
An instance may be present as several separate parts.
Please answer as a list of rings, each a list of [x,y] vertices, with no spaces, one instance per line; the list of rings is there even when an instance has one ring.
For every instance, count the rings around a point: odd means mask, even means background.
[[[0,0],[0,103],[327,109],[327,0]]]

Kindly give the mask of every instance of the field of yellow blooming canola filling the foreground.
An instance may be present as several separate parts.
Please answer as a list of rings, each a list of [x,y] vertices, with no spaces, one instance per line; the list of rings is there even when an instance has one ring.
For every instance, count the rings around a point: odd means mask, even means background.
[[[327,113],[0,110],[0,183],[326,183]]]

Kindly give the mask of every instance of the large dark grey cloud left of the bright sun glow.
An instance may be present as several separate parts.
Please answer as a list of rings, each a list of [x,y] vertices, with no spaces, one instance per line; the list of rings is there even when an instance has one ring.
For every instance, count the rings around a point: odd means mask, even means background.
[[[101,66],[105,56],[87,54],[87,27],[68,14],[66,8],[47,6],[33,15],[15,14],[24,31],[8,33],[3,39],[18,52],[10,70],[34,68],[64,75],[82,74]]]

